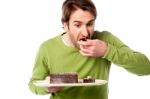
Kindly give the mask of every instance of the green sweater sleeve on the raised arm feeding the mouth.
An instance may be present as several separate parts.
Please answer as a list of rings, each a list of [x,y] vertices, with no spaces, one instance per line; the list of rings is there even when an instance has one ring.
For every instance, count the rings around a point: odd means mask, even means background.
[[[150,74],[150,61],[142,53],[134,51],[117,37],[108,33],[108,49],[103,58],[137,75]]]

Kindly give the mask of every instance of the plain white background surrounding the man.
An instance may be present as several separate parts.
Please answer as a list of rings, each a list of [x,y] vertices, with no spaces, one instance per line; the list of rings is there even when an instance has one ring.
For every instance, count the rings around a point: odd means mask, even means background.
[[[34,95],[28,81],[40,44],[60,34],[64,0],[0,0],[0,98],[49,99]],[[96,29],[112,32],[150,59],[149,0],[93,0]],[[150,99],[150,76],[112,65],[109,99]]]

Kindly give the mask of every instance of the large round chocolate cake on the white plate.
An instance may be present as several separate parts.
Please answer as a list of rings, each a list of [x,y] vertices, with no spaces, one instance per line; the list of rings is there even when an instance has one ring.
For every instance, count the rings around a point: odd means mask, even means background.
[[[78,83],[76,72],[50,74],[50,83]]]

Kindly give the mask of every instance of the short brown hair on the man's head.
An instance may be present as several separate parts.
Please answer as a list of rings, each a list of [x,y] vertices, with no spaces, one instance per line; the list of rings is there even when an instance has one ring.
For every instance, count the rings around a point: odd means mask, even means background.
[[[84,11],[89,11],[96,19],[97,10],[91,0],[66,0],[62,6],[62,19],[61,22],[68,22],[72,11],[80,8]]]

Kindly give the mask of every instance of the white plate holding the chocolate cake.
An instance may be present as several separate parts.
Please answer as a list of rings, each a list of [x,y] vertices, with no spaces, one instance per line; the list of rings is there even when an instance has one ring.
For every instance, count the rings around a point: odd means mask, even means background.
[[[103,85],[106,84],[106,80],[95,80],[94,83],[59,83],[59,84],[51,84],[46,80],[40,80],[40,81],[35,81],[34,84],[36,86],[41,86],[41,87],[71,87],[71,86],[98,86],[98,85]]]

